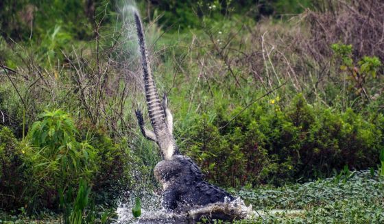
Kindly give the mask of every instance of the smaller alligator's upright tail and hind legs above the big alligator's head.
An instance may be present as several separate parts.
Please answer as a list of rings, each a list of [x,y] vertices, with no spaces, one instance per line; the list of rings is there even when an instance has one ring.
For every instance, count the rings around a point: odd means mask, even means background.
[[[150,68],[147,49],[145,49],[145,39],[143,33],[143,25],[141,24],[140,16],[138,12],[134,12],[134,20],[136,22],[137,36],[139,37],[139,47],[141,52],[141,64],[143,67],[143,78],[144,78],[144,87],[145,87],[145,98],[147,100],[147,108],[149,119],[151,120],[151,125],[154,129],[154,136],[147,136],[145,133],[150,133],[143,131],[143,122],[139,122],[141,130],[145,137],[148,139],[155,140],[160,147],[160,151],[165,160],[171,160],[172,155],[176,152],[176,142],[173,138],[173,134],[170,132],[172,128],[169,128],[167,122],[165,121],[165,110],[170,114],[169,109],[163,108],[160,98],[158,97],[158,92],[155,86],[154,77]],[[165,103],[167,105],[167,103]],[[137,113],[136,113],[137,116]],[[139,119],[139,116],[138,116]],[[167,117],[169,120],[169,117]]]

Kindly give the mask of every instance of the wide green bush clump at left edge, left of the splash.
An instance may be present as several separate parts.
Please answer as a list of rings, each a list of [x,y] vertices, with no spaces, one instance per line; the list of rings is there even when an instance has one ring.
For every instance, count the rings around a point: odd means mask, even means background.
[[[132,158],[125,141],[117,144],[101,128],[93,131],[84,123],[78,132],[62,110],[38,119],[25,140],[14,138],[8,127],[1,129],[0,208],[57,209],[59,192],[76,190],[80,180],[104,195],[96,198],[103,203],[130,187],[130,166],[125,164]]]

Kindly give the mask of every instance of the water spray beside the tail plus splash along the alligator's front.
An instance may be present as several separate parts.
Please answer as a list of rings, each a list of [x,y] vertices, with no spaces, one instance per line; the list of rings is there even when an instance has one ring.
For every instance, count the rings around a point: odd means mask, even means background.
[[[137,40],[136,27],[134,23],[134,14],[138,13],[134,1],[125,1],[120,7],[121,18],[123,21],[124,35],[127,40]],[[133,43],[134,41],[132,41]],[[137,43],[137,41],[135,41]],[[128,45],[126,51],[139,55],[138,45]],[[138,59],[139,57],[134,57]],[[138,60],[139,61],[139,60]],[[133,79],[136,84],[142,84],[141,73],[136,73]],[[140,80],[140,81],[139,81]],[[132,164],[127,164],[132,165]],[[121,198],[117,214],[119,216],[117,223],[195,223],[202,216],[217,215],[217,217],[226,217],[226,219],[247,219],[251,216],[257,216],[252,210],[252,206],[245,206],[241,199],[234,201],[225,201],[224,203],[212,203],[208,206],[191,206],[186,210],[178,212],[169,212],[160,206],[160,193],[154,193],[156,188],[145,188],[153,180],[143,177],[140,171],[134,171],[134,179],[137,183],[130,192],[125,192],[125,197]],[[154,189],[154,190],[153,190]],[[160,190],[158,190],[160,192]],[[134,198],[141,198],[141,218],[135,219],[132,215]],[[127,198],[128,197],[128,198]]]

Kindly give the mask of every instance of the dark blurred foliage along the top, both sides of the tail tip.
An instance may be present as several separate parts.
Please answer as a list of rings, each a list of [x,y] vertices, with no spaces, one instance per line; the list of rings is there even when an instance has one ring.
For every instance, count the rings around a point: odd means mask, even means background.
[[[278,17],[300,13],[310,6],[311,2],[312,0],[167,0],[137,1],[137,4],[147,9],[149,18],[159,19],[159,23],[167,29],[177,30],[200,27],[204,14],[211,14],[215,18],[222,18],[234,12],[246,13],[254,19],[269,15]],[[0,2],[0,34],[26,40],[32,37],[41,38],[53,29],[61,29],[60,34],[67,35],[67,39],[89,40],[93,38],[93,25],[99,21],[110,24],[115,11],[119,12],[124,4],[125,1],[119,0],[5,0]],[[108,16],[103,17],[103,12]]]

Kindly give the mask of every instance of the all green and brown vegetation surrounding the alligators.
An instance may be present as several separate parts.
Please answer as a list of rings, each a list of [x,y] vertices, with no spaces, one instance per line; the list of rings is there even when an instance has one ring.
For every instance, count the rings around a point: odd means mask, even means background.
[[[123,3],[0,2],[0,223],[108,223],[159,191]],[[383,3],[137,6],[180,151],[254,223],[383,222]]]

